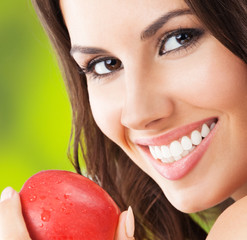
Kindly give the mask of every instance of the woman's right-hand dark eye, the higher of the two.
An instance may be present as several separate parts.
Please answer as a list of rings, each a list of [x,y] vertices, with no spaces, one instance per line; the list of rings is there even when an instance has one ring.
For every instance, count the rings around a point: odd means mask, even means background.
[[[166,34],[161,43],[160,55],[187,48],[195,43],[203,33],[204,31],[200,29],[179,29]]]

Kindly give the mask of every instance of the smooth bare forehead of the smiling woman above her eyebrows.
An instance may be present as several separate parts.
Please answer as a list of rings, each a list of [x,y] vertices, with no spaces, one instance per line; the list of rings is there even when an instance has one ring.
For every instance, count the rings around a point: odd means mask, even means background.
[[[183,0],[60,0],[60,6],[71,42],[85,45],[107,36],[123,39],[166,12],[187,8]]]

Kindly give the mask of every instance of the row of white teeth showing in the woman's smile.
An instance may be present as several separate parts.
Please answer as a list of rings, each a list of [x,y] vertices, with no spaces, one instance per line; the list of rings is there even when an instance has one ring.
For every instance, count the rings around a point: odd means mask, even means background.
[[[204,123],[201,132],[198,130],[192,131],[190,138],[188,136],[183,136],[181,141],[175,140],[171,142],[170,146],[149,146],[150,153],[153,158],[160,159],[163,163],[178,161],[193,151],[195,147],[202,142],[202,139],[208,136],[214,127],[214,122],[210,127]]]

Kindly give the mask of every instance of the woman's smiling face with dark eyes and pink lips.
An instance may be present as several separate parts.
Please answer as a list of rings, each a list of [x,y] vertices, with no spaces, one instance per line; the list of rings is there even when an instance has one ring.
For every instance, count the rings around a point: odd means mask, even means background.
[[[247,194],[247,68],[187,5],[61,0],[61,8],[96,123],[169,201],[195,212]]]

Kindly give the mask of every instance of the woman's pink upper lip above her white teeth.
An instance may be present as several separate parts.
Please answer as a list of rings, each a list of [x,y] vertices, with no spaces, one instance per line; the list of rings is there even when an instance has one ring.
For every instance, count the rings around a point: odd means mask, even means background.
[[[173,130],[170,130],[166,133],[162,133],[155,137],[149,137],[149,138],[139,138],[135,139],[135,144],[142,145],[142,146],[161,146],[161,145],[168,145],[174,140],[179,139],[182,136],[185,136],[189,133],[191,133],[196,128],[200,127],[204,123],[208,124],[210,126],[211,123],[216,122],[217,117],[210,117],[206,118],[197,122],[193,122],[187,125],[183,125],[180,127],[177,127]]]

